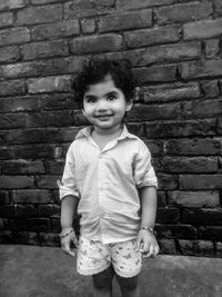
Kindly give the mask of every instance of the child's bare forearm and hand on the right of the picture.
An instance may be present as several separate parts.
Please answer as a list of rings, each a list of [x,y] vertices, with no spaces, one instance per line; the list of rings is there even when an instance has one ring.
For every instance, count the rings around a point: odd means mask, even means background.
[[[155,187],[141,188],[141,227],[153,228],[155,224],[157,215],[157,189]],[[145,229],[141,229],[138,235],[138,250],[143,254],[144,257],[152,257],[159,254],[159,245],[155,236]]]

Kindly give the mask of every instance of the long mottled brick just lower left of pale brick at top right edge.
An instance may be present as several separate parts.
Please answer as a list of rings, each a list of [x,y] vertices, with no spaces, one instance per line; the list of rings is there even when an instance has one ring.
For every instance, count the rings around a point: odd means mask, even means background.
[[[141,48],[145,46],[179,41],[179,27],[169,26],[154,29],[140,29],[124,32],[128,48]]]

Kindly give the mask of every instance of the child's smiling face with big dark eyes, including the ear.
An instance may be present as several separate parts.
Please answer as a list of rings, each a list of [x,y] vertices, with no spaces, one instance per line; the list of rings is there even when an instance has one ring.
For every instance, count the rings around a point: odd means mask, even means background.
[[[124,93],[114,86],[111,76],[107,76],[104,80],[89,86],[83,97],[82,112],[95,131],[115,132],[131,107],[132,101],[127,102]]]

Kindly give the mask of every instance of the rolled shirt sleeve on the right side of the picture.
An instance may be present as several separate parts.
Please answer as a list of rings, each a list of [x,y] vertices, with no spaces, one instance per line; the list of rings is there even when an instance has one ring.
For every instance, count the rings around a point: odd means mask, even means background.
[[[147,186],[154,186],[158,188],[158,179],[151,164],[151,154],[142,140],[139,141],[139,149],[134,164],[134,181],[138,188]]]

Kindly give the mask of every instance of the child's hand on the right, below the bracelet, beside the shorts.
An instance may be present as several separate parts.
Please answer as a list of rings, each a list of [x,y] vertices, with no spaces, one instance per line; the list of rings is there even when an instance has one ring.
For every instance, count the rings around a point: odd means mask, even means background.
[[[140,251],[144,258],[157,256],[160,248],[155,236],[148,230],[140,230],[137,241],[137,251]]]

